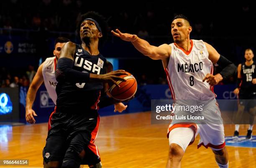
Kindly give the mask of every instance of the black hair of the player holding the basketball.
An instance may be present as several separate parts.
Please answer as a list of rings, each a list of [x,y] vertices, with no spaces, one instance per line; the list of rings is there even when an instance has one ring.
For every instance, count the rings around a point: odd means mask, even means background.
[[[87,18],[96,20],[98,22],[98,24],[100,25],[102,37],[100,38],[99,42],[102,43],[105,40],[107,40],[108,23],[107,23],[105,17],[100,15],[98,12],[94,12],[94,11],[90,11],[90,12],[87,12],[87,13],[81,15],[79,22],[77,23],[77,36],[79,37],[79,39],[81,39],[81,37],[80,37],[81,23],[82,23],[82,21],[84,21]]]

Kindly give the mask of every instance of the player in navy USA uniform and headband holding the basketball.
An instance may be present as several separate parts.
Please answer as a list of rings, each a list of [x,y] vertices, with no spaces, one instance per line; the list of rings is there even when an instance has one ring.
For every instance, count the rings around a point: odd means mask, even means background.
[[[112,65],[98,50],[106,37],[104,18],[87,12],[81,16],[78,30],[82,44],[67,42],[57,64],[56,112],[43,150],[44,168],[101,167],[94,144],[100,122],[97,109],[116,101],[106,97],[99,103],[100,90],[103,83],[125,81],[118,77],[125,71],[110,72]]]

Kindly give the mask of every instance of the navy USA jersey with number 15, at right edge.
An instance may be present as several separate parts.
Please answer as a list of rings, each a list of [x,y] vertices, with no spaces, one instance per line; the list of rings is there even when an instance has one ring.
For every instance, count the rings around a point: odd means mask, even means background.
[[[241,89],[256,92],[256,84],[252,83],[252,79],[256,78],[256,63],[253,62],[251,66],[246,66],[245,63],[241,64],[241,76]]]

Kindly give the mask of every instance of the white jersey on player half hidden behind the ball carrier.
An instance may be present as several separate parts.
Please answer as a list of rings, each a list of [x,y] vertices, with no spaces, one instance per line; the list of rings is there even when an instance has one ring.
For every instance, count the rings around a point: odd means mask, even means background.
[[[49,57],[45,60],[44,66],[42,69],[42,73],[44,77],[44,85],[54,104],[56,104],[56,99],[57,99],[57,94],[55,89],[58,83],[55,78],[55,67],[56,67],[56,57]]]

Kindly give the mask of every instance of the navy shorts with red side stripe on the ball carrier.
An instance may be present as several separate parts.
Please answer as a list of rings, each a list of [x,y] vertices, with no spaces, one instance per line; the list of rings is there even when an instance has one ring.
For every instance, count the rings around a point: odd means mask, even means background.
[[[43,150],[44,161],[62,162],[64,158],[70,158],[84,165],[99,163],[100,154],[94,144],[100,124],[97,110],[64,112],[58,111],[58,107],[55,110]],[[85,157],[81,160],[82,150]]]

